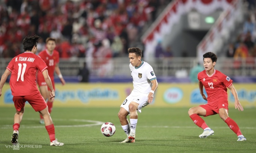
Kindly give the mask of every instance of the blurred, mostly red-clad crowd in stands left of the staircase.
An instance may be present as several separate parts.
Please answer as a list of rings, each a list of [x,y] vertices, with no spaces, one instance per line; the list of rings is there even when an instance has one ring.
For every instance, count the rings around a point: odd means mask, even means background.
[[[56,38],[60,58],[126,56],[143,26],[171,0],[4,0],[0,5],[0,57],[23,52],[27,35]]]

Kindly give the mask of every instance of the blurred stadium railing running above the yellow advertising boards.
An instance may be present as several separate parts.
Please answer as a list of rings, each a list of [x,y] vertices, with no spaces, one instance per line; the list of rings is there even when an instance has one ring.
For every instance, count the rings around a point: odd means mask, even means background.
[[[0,74],[2,75],[11,58],[0,58]],[[90,76],[93,77],[130,77],[129,58],[99,58],[99,59],[60,59],[59,68],[63,76],[77,76],[79,68],[87,62]],[[190,69],[197,65],[198,60],[189,58],[154,58],[148,62],[154,69],[156,76],[178,77],[179,72],[188,75]],[[203,60],[200,61],[203,67]],[[219,57],[215,66],[227,76],[256,76],[256,58],[224,58]]]

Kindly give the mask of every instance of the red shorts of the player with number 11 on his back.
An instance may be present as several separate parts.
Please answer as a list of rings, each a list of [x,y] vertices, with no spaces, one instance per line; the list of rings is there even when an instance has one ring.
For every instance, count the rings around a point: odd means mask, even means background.
[[[22,108],[24,108],[26,101],[29,102],[29,104],[36,112],[42,111],[47,107],[47,104],[39,91],[26,96],[13,96],[12,100],[16,110],[19,112]]]

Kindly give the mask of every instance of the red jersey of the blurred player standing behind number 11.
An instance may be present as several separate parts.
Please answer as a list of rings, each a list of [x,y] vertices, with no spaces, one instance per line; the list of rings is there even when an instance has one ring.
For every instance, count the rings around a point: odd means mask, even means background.
[[[47,65],[48,74],[53,81],[54,79],[54,71],[55,71],[55,65],[59,62],[59,52],[56,50],[53,50],[52,54],[50,54],[47,50],[44,50],[38,54],[38,56],[43,59],[43,61]],[[43,78],[43,74],[38,71],[38,77]]]

